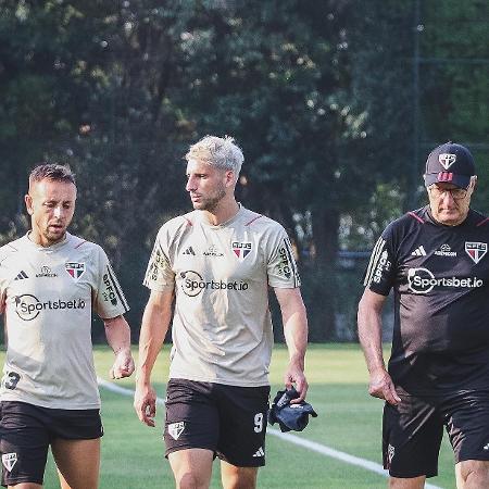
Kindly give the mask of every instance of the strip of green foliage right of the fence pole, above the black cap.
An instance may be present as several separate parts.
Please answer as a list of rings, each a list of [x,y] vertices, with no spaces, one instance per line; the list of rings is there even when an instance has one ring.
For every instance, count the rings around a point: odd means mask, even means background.
[[[453,140],[476,158],[481,185],[475,205],[488,211],[489,5],[484,1],[423,2],[422,140]]]

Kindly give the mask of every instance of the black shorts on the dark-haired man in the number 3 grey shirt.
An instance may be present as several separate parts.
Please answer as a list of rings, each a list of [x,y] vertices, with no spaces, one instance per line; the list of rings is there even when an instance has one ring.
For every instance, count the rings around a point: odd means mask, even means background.
[[[103,435],[100,410],[51,410],[25,402],[0,403],[2,486],[42,484],[52,440],[90,440]]]

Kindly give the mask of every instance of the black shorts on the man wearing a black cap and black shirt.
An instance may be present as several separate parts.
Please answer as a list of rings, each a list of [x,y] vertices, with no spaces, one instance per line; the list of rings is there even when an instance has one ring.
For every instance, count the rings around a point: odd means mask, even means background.
[[[399,405],[384,408],[384,468],[392,477],[436,476],[443,427],[455,463],[489,461],[489,391],[400,397]]]

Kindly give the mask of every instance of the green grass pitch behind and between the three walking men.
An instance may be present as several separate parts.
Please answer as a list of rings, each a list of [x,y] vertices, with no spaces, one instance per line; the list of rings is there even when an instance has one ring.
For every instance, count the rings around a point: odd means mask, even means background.
[[[99,376],[108,379],[112,352],[98,347],[95,352]],[[153,381],[164,397],[168,348],[160,354]],[[277,346],[272,362],[273,393],[281,388],[287,362],[286,349]],[[366,371],[356,344],[312,344],[308,352],[306,374],[310,383],[308,400],[318,413],[308,428],[296,434],[306,440],[327,446],[372,462],[380,463],[380,417],[383,403],[366,392]],[[134,389],[133,379],[117,385]],[[173,477],[163,456],[163,408],[159,408],[156,428],[142,425],[136,417],[129,397],[101,389],[105,435],[102,438],[101,489],[173,488]],[[385,488],[381,475],[317,452],[297,447],[276,436],[267,436],[267,464],[260,471],[259,487],[265,489],[360,489]],[[430,484],[454,489],[452,453],[444,441],[438,477]],[[49,462],[45,487],[58,488],[52,461]],[[218,463],[214,464],[212,488],[220,488]]]

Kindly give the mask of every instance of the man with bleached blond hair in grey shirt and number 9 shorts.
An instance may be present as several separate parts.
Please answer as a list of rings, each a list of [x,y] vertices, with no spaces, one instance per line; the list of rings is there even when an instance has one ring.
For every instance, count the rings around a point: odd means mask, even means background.
[[[229,137],[206,136],[186,154],[193,212],[160,229],[145,285],[135,409],[154,426],[150,376],[173,314],[165,455],[178,488],[208,488],[214,456],[223,487],[254,488],[265,463],[273,331],[268,286],[281,310],[289,364],[284,381],[308,390],[305,308],[284,228],[235,199],[243,161]]]

